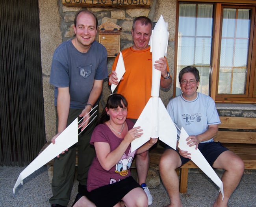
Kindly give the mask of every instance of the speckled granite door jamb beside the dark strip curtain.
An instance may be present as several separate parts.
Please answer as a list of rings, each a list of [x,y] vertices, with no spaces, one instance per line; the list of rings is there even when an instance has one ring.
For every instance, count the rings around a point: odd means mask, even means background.
[[[58,0],[39,0],[46,140],[55,135],[54,87],[49,84],[52,55],[62,42]]]

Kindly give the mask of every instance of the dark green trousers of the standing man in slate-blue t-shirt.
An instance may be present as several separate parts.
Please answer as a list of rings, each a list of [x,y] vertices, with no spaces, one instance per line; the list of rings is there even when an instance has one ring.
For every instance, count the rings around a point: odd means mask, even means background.
[[[93,110],[98,110],[98,107]],[[80,115],[82,109],[70,109],[68,117],[68,125]],[[92,113],[93,113],[92,112]],[[57,113],[57,109],[56,109]],[[92,114],[91,113],[91,114]],[[52,178],[52,194],[49,199],[51,204],[59,204],[67,206],[73,187],[75,167],[76,167],[76,147],[78,147],[78,175],[77,180],[81,185],[87,185],[87,175],[89,167],[95,157],[94,147],[90,144],[91,134],[98,120],[98,111],[95,113],[97,117],[91,124],[79,135],[78,143],[69,148],[67,152],[61,154],[59,158],[54,160],[54,170]],[[58,129],[58,116],[56,114],[56,131]],[[78,117],[79,119],[79,117]]]

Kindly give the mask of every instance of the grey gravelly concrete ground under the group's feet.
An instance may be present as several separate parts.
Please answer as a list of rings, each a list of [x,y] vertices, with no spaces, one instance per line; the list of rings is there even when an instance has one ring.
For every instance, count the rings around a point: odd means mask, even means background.
[[[48,170],[41,167],[23,181],[13,194],[13,187],[25,167],[0,166],[0,207],[50,207],[52,196]],[[219,176],[222,171],[216,171]],[[74,181],[70,207],[76,196],[78,182]],[[167,193],[160,183],[150,189],[153,203],[150,207],[163,207],[169,203]],[[218,187],[204,174],[192,171],[188,176],[187,193],[180,194],[183,207],[210,207],[217,198]],[[237,189],[232,194],[229,207],[256,207],[256,170],[246,170]]]

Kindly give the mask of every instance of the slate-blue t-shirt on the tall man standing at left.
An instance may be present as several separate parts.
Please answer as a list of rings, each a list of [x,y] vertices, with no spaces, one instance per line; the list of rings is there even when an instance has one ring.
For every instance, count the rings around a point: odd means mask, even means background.
[[[70,108],[83,109],[94,80],[108,77],[107,58],[106,48],[96,41],[86,53],[79,52],[71,39],[61,43],[54,52],[50,74],[50,84],[55,86],[55,106],[58,87],[69,87]]]

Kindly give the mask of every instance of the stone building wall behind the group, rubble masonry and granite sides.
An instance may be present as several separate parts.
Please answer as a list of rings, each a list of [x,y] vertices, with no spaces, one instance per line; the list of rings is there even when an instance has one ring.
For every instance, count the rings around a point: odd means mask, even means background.
[[[176,19],[176,0],[150,0],[150,8],[137,9],[106,9],[106,8],[82,8],[67,7],[62,5],[61,0],[39,0],[40,10],[40,33],[41,33],[41,59],[43,74],[43,95],[45,106],[45,131],[46,140],[55,135],[55,109],[54,109],[54,87],[49,84],[50,67],[52,55],[56,47],[62,42],[74,36],[73,20],[77,11],[88,9],[96,14],[98,23],[101,25],[111,21],[121,26],[120,43],[121,50],[132,45],[132,21],[138,16],[147,16],[154,22],[163,15],[165,22],[168,22],[169,45],[167,50],[167,61],[170,73],[174,73],[174,37]],[[98,40],[98,35],[97,35]],[[114,58],[108,58],[108,71]],[[104,107],[106,99],[111,94],[107,80],[104,81],[102,99],[100,101],[100,112]],[[160,97],[166,105],[173,94],[173,86],[170,89],[160,89]]]

